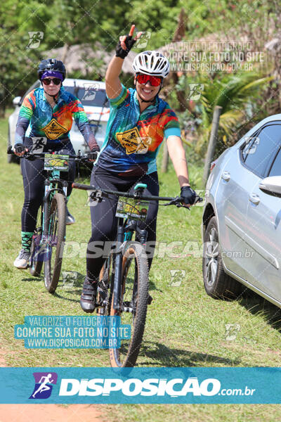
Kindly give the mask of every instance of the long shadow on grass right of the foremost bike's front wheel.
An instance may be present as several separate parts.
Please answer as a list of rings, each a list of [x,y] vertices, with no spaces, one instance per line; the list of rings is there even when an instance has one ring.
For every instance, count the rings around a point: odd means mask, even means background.
[[[240,359],[228,359],[214,354],[207,353],[197,353],[197,352],[188,352],[188,350],[183,349],[174,349],[171,347],[166,347],[161,343],[151,343],[145,342],[143,347],[141,347],[140,357],[149,357],[155,361],[155,366],[206,366],[206,363],[211,364],[223,364],[223,365],[239,365],[241,363]],[[153,366],[153,362],[142,362],[143,365],[147,364]]]

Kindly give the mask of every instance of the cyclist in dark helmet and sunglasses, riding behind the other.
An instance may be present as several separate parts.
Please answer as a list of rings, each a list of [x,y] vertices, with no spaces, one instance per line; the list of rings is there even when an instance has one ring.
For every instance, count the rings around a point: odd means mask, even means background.
[[[25,151],[65,153],[74,155],[70,141],[72,117],[91,151],[99,151],[95,136],[91,132],[84,108],[74,95],[65,91],[65,65],[55,58],[42,60],[37,70],[41,87],[33,89],[22,102],[15,130],[15,155]],[[25,202],[22,207],[22,249],[15,259],[14,266],[26,269],[30,259],[30,246],[37,222],[37,213],[44,198],[44,160],[21,160],[22,179],[25,189]],[[70,160],[67,179],[74,181],[75,162]],[[67,187],[67,198],[72,190]],[[70,212],[66,213],[66,224],[74,224]]]

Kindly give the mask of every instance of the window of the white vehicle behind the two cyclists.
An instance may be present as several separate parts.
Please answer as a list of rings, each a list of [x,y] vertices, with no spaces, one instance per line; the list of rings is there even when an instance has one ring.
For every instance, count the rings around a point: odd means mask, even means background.
[[[85,87],[63,87],[79,98],[83,106],[109,107],[105,89],[97,89],[93,83],[85,84]]]

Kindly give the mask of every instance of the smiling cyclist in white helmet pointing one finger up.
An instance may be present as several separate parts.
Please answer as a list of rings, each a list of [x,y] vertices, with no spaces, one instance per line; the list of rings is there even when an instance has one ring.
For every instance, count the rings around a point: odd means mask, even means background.
[[[129,191],[137,183],[148,187],[144,195],[159,195],[156,158],[164,138],[181,186],[181,198],[186,205],[195,202],[190,188],[188,166],[181,141],[178,119],[169,105],[159,98],[164,78],[169,74],[169,61],[157,51],[143,51],[133,61],[135,89],[126,89],[119,74],[124,58],[141,32],[133,38],[119,38],[116,55],[105,75],[106,94],[110,101],[110,118],[105,141],[93,166],[91,185],[112,191]],[[81,308],[93,312],[96,304],[97,281],[105,258],[97,254],[98,242],[114,241],[117,230],[115,210],[117,198],[106,198],[91,207],[92,234],[87,248],[86,279],[81,293]],[[150,203],[145,229],[147,241],[156,240],[157,201]],[[93,252],[93,245],[95,250]],[[102,247],[100,247],[102,248]],[[98,256],[97,256],[98,255]],[[149,257],[149,267],[152,257]]]

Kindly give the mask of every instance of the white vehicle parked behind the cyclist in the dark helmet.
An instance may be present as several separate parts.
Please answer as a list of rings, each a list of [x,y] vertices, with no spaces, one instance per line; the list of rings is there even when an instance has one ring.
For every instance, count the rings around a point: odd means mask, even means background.
[[[17,96],[13,99],[15,111],[8,118],[8,146],[13,146],[15,141],[15,125],[18,121],[20,106],[25,96],[32,89],[40,87],[40,81],[37,80],[22,97]],[[105,139],[106,125],[110,115],[109,102],[105,94],[105,82],[98,82],[88,79],[70,79],[63,81],[63,87],[79,98],[84,106],[85,113],[89,119],[93,134],[96,136],[98,146],[101,146]],[[70,140],[76,153],[89,151],[89,147],[84,141],[83,135],[79,132],[77,124],[73,121],[70,131]],[[8,162],[17,161],[15,155],[8,155]]]

